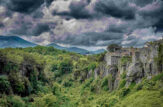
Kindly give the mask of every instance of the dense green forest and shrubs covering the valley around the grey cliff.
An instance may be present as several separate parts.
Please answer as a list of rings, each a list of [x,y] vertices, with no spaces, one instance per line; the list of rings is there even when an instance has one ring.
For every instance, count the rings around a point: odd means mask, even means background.
[[[111,77],[87,78],[104,55],[42,46],[0,49],[0,107],[163,107],[163,73],[128,87],[123,73],[112,91]]]

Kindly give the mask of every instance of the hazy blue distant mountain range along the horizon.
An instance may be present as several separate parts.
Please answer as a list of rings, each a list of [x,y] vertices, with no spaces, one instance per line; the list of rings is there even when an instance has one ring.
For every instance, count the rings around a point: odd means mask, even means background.
[[[37,44],[34,44],[32,42],[26,41],[20,37],[17,36],[0,36],[0,48],[16,48],[16,47],[22,47],[22,48],[26,48],[26,47],[34,47],[37,46]],[[77,48],[77,47],[62,47],[59,46],[55,43],[49,44],[47,46],[52,46],[54,48],[60,49],[60,50],[66,50],[69,52],[75,52],[75,53],[79,53],[79,54],[99,54],[104,52],[104,49],[100,49],[97,51],[88,51],[85,49],[81,49],[81,48]]]

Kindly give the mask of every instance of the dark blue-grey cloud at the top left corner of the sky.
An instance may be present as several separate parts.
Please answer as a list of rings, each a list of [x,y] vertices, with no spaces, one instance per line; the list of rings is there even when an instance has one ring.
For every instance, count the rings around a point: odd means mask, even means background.
[[[9,10],[20,13],[31,13],[38,9],[44,0],[1,0]]]

